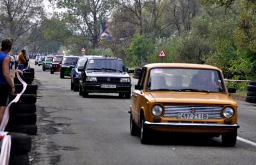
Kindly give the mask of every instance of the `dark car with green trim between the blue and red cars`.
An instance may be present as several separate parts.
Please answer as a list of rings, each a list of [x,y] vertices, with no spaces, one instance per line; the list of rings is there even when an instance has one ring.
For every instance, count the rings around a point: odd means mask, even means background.
[[[61,64],[60,64],[60,78],[63,79],[65,76],[71,75],[72,67],[76,63],[78,56],[63,56]]]

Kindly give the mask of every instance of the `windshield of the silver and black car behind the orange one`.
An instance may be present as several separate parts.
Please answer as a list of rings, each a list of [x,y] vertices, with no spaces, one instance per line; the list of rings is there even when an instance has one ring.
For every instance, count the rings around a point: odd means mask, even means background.
[[[122,72],[124,63],[120,59],[90,59],[87,70],[104,70],[104,72]]]

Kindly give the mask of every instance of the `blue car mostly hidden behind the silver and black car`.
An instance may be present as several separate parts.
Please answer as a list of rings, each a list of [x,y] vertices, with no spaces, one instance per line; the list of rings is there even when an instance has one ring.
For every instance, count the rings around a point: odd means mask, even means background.
[[[83,68],[87,59],[93,58],[93,57],[102,57],[102,56],[90,56],[90,55],[81,56],[77,59],[74,65],[70,65],[70,67],[72,68],[71,74],[70,74],[71,76],[70,90],[79,91],[79,79],[80,79],[81,72],[78,71],[78,69]]]

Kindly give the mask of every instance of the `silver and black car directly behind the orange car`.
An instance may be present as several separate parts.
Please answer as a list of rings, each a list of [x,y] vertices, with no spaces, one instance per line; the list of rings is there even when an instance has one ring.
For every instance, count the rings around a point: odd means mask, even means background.
[[[119,97],[131,98],[131,78],[134,72],[125,67],[120,58],[89,58],[79,79],[79,95],[89,93],[118,93]]]

